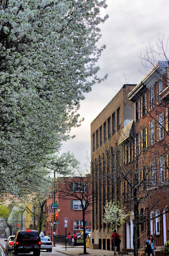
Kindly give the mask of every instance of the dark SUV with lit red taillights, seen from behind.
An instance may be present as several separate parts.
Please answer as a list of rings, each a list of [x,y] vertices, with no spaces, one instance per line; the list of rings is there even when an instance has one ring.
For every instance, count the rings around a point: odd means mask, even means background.
[[[15,255],[23,252],[33,252],[40,255],[40,236],[35,230],[19,230],[13,240],[12,250]]]

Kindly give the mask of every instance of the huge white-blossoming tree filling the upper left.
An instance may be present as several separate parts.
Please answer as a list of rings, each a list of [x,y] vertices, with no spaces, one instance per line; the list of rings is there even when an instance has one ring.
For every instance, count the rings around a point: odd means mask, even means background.
[[[0,193],[54,162],[100,82],[106,0],[0,0]],[[104,79],[104,78],[103,78]]]

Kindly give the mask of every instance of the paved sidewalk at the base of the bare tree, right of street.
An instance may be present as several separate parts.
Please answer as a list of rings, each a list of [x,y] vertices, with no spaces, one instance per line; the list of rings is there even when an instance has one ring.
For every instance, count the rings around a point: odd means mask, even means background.
[[[62,252],[68,255],[72,255],[72,256],[77,256],[79,254],[83,254],[83,247],[82,246],[76,246],[76,247],[72,247],[72,246],[67,246],[66,250],[65,250],[65,245],[63,244],[56,244],[56,247],[52,247],[53,251],[57,251],[57,252]],[[89,256],[113,256],[114,252],[113,251],[107,251],[107,250],[100,250],[100,249],[96,249],[96,250],[92,250],[89,248],[86,248],[87,253],[89,253]]]

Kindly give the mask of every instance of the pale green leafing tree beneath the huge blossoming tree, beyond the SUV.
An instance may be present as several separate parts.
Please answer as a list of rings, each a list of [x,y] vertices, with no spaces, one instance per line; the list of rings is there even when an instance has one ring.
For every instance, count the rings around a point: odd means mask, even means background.
[[[20,208],[20,211],[26,211],[33,217],[33,228],[37,229],[39,234],[46,220],[45,203],[49,195],[51,195],[52,187],[55,184],[55,178],[51,174],[55,171],[58,174],[71,174],[77,167],[77,160],[73,154],[63,153],[55,156],[54,163],[50,163],[48,168],[41,168],[34,179],[31,181],[31,175],[27,177],[23,193],[18,197],[11,197],[9,200]],[[21,227],[21,226],[20,226]]]

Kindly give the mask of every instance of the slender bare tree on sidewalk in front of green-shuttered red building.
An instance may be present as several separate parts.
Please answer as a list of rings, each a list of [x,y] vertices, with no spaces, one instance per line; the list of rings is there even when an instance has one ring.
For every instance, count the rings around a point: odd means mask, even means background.
[[[78,172],[77,177],[57,178],[58,198],[65,200],[79,200],[82,210],[84,254],[86,254],[85,216],[91,212],[92,202],[96,199],[96,191],[92,189],[91,175],[82,175]]]

